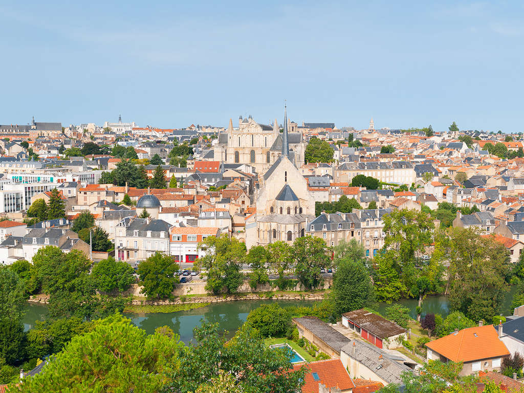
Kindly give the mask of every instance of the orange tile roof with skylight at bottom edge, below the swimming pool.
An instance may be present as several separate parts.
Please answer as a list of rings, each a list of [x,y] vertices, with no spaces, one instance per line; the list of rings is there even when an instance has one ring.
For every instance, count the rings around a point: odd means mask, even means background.
[[[298,370],[301,367],[307,369],[307,374],[305,374],[304,377],[305,383],[304,386],[302,386],[302,393],[319,393],[319,384],[323,384],[328,388],[338,387],[342,391],[355,387],[355,384],[340,359],[311,362],[305,366],[301,364],[294,365],[293,369]],[[313,373],[318,374],[318,380],[313,378]]]

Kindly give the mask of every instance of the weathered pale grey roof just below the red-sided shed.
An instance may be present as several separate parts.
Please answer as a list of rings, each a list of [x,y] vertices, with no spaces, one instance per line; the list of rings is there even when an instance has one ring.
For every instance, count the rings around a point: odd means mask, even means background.
[[[395,361],[386,351],[361,340],[352,340],[342,348],[342,351],[388,384],[401,384],[402,374],[413,372],[405,364]]]

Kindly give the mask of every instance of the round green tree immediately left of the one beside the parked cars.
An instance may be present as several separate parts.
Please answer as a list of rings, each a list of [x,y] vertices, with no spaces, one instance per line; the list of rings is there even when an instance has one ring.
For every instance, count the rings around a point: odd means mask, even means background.
[[[113,257],[101,260],[93,267],[91,275],[100,291],[124,292],[135,282],[135,271],[129,264]]]

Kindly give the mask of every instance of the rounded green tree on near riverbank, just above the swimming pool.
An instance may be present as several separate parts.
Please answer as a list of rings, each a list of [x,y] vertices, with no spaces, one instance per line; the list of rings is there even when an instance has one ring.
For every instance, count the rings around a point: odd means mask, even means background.
[[[262,304],[249,312],[246,325],[263,337],[283,337],[291,329],[291,315],[278,303]]]

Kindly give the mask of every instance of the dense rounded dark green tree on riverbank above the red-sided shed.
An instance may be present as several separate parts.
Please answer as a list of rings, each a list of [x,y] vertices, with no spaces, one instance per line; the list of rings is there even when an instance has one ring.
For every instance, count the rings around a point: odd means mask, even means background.
[[[360,256],[350,255],[335,260],[332,300],[337,315],[364,308],[373,301],[373,283],[364,261]]]

